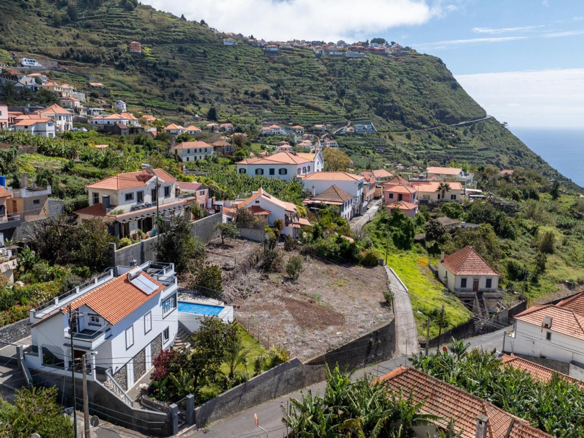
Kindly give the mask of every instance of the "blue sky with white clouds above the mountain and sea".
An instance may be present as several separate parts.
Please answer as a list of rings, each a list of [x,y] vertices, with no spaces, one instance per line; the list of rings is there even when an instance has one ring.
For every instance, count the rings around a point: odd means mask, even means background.
[[[584,0],[142,0],[267,40],[384,37],[442,58],[487,113],[584,128]]]

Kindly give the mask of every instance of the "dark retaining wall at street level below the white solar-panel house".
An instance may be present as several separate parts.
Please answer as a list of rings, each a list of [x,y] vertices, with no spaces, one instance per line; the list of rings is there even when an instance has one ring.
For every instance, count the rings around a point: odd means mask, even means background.
[[[64,379],[63,376],[53,375],[46,371],[31,370],[30,373],[34,384],[47,388],[57,387],[57,399],[62,400],[62,406],[73,406],[71,376]],[[77,397],[81,398],[81,394],[83,394],[81,378],[75,378],[75,392]],[[100,422],[114,423],[147,436],[170,436],[172,434],[171,423],[166,413],[131,408],[113,392],[95,381],[87,381],[87,392],[89,415],[97,415]],[[78,401],[77,407],[78,409],[82,408],[80,401]]]

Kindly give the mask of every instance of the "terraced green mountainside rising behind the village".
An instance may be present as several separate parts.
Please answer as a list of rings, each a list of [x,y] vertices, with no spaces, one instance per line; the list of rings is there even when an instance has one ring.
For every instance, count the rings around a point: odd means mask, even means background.
[[[224,35],[206,24],[134,4],[0,0],[0,49],[56,60],[60,69],[51,77],[79,88],[102,82],[106,98],[181,123],[211,106],[218,119],[250,133],[262,121],[342,126],[371,120],[378,134],[338,136],[353,159],[420,165],[458,159],[564,179],[495,120],[406,134],[485,116],[439,58],[346,60],[299,48],[266,55],[241,41],[223,46]],[[133,40],[142,43],[142,54],[128,51]]]

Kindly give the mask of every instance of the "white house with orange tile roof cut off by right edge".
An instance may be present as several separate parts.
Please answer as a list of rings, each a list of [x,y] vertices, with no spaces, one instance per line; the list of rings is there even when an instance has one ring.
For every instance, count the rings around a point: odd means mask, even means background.
[[[547,359],[569,376],[584,378],[584,293],[558,304],[535,305],[515,316],[503,352]],[[557,361],[554,363],[554,361]]]

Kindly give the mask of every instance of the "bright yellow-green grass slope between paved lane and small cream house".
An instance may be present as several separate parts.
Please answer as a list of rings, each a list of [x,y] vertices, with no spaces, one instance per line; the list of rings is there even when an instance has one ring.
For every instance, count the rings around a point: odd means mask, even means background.
[[[438,335],[440,308],[443,304],[443,331],[464,324],[472,317],[472,312],[434,278],[427,263],[425,254],[413,250],[390,253],[387,256],[387,264],[409,290],[420,338],[426,338],[426,317],[430,317],[430,338]]]

